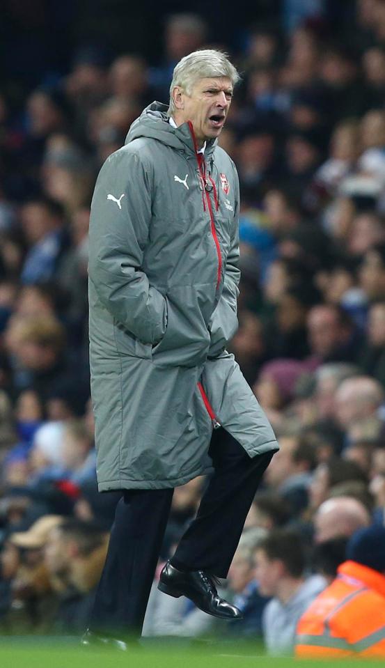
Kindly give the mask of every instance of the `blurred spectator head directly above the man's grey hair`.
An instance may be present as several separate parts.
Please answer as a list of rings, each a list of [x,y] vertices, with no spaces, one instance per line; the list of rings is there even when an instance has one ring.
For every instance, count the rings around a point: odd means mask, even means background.
[[[171,61],[201,49],[207,39],[207,24],[198,14],[180,13],[166,20],[166,52]]]

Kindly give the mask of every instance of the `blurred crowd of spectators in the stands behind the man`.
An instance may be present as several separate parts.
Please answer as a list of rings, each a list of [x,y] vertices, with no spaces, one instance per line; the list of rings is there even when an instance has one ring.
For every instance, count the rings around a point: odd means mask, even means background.
[[[242,83],[219,140],[242,194],[230,348],[281,446],[221,583],[244,620],[223,630],[154,586],[144,630],[263,638],[270,653],[293,651],[299,618],[347,555],[385,573],[384,550],[362,557],[385,521],[385,3],[346,3],[338,21],[331,3],[282,5],[231,54]],[[0,92],[3,632],[86,626],[119,497],[98,495],[95,477],[93,186],[143,107],[168,102],[175,63],[227,48],[208,34],[203,16],[174,15],[156,65],[129,42],[110,59],[82,45],[68,72]],[[175,490],[162,561],[204,485]]]

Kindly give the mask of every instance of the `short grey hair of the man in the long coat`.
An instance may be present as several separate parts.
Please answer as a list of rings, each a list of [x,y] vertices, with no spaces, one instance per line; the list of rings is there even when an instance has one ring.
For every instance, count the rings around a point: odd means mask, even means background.
[[[184,56],[175,65],[173,80],[170,86],[170,107],[168,108],[167,115],[172,116],[176,111],[173,102],[173,89],[175,86],[180,86],[189,95],[196,81],[207,79],[208,77],[215,77],[216,79],[219,77],[228,77],[233,86],[241,78],[234,65],[228,60],[227,54],[222,51],[217,51],[217,49],[194,51],[188,56]]]

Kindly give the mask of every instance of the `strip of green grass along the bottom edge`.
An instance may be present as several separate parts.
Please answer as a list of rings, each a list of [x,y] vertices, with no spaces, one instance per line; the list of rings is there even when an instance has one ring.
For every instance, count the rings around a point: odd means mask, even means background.
[[[296,661],[268,658],[258,648],[243,644],[194,644],[159,642],[143,644],[141,650],[120,653],[81,649],[75,642],[53,639],[3,638],[1,668],[347,668],[352,661]],[[384,662],[382,661],[382,664]],[[354,668],[373,662],[354,660]],[[375,662],[375,665],[377,662]]]

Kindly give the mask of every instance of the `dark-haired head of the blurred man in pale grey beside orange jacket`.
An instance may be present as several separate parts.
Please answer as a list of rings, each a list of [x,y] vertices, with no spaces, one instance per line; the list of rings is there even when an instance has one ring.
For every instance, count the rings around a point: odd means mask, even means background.
[[[271,531],[256,547],[255,564],[260,593],[278,596],[283,582],[300,580],[304,574],[301,536],[288,529]]]

